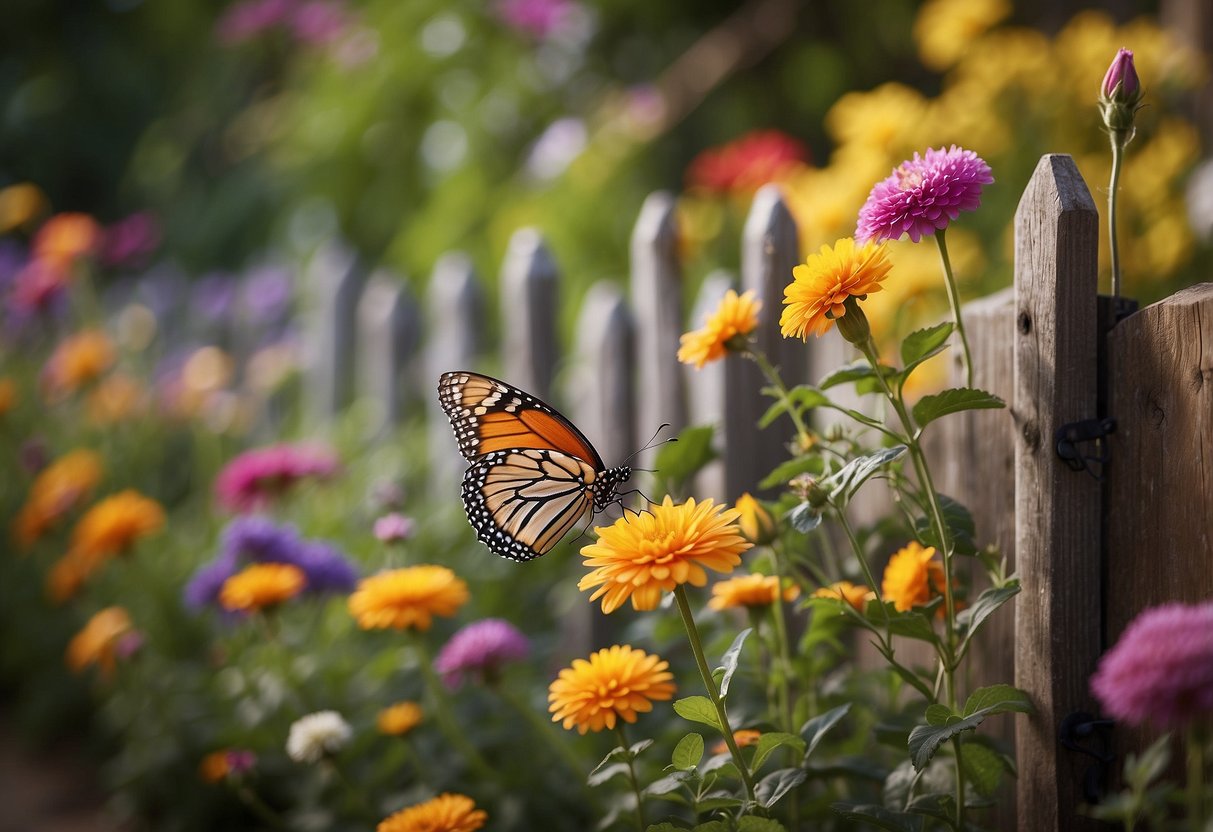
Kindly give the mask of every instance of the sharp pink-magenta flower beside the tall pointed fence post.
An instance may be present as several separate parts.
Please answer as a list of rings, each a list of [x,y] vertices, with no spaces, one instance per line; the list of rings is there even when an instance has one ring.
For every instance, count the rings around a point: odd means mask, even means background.
[[[917,243],[927,234],[981,204],[981,186],[993,182],[990,165],[973,150],[955,144],[947,150],[927,149],[926,156],[901,163],[887,179],[876,183],[859,210],[855,241]]]

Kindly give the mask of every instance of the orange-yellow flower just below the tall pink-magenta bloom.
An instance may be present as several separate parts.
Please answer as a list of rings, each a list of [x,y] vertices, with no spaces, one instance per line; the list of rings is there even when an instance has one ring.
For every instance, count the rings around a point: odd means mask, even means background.
[[[890,268],[883,245],[856,246],[853,238],[844,237],[832,249],[821,246],[792,269],[792,283],[784,289],[780,331],[785,337],[802,340],[808,340],[809,334],[825,335],[833,319],[845,314],[847,298],[864,300],[881,291]]]

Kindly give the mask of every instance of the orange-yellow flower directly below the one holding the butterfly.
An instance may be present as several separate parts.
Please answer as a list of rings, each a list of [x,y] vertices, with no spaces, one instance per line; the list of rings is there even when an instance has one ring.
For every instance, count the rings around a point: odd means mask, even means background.
[[[579,734],[615,728],[617,719],[634,723],[654,701],[674,695],[670,662],[626,644],[576,659],[552,682],[547,693],[552,722]]]

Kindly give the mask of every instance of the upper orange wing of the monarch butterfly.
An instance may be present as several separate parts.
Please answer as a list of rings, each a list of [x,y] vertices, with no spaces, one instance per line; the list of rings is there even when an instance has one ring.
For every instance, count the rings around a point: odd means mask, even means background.
[[[596,471],[602,457],[554,408],[503,381],[478,372],[444,372],[438,401],[451,421],[459,450],[475,462],[494,451],[551,450],[583,460]]]

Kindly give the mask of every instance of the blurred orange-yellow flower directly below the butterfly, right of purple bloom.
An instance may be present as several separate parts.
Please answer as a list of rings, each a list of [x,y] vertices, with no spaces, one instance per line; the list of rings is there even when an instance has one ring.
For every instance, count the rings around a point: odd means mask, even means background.
[[[468,599],[467,583],[446,566],[392,569],[363,579],[349,595],[349,614],[363,629],[429,629],[433,616],[451,616]]]

